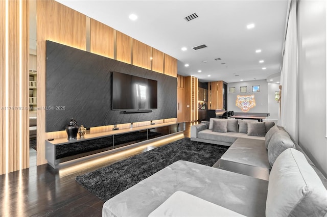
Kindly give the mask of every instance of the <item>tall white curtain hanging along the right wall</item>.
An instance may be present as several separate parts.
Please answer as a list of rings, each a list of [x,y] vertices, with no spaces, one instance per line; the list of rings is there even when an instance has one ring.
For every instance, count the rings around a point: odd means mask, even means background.
[[[282,101],[278,125],[284,126],[298,142],[298,76],[296,1],[291,2],[281,74]]]

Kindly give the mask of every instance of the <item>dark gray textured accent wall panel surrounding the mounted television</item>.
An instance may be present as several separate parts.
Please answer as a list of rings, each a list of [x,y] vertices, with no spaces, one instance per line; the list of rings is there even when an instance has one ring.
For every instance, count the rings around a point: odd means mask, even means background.
[[[112,71],[158,81],[151,113],[112,110]],[[85,127],[177,117],[177,78],[46,41],[46,132],[64,130],[71,118]]]

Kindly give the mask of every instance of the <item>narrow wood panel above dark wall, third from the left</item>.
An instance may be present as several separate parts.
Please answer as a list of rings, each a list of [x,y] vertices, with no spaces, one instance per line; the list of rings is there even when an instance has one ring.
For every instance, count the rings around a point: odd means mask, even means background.
[[[117,31],[117,60],[131,64],[132,38]]]

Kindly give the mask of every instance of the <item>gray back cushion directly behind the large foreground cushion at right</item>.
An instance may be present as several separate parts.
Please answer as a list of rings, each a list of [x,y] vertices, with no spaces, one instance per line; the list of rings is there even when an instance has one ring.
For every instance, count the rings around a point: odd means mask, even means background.
[[[268,144],[268,159],[270,165],[273,166],[279,154],[288,148],[295,148],[289,134],[283,130],[275,132]]]

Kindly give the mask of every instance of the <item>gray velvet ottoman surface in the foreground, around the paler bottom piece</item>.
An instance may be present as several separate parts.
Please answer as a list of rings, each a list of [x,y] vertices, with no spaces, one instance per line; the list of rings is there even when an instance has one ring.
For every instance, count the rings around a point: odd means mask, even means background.
[[[177,191],[246,216],[264,216],[268,181],[179,160],[109,199],[102,216],[148,216]]]

